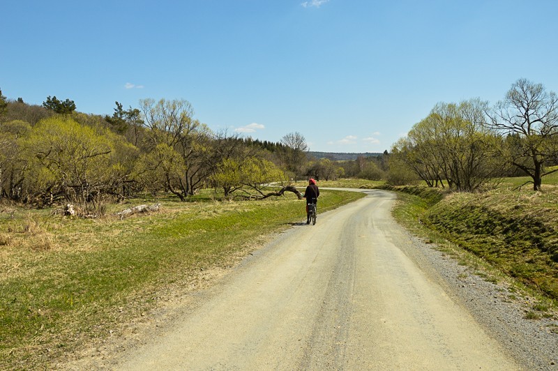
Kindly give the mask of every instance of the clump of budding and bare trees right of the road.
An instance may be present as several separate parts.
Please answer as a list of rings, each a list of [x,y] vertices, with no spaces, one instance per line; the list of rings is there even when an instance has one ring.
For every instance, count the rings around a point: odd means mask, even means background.
[[[391,152],[430,187],[474,191],[523,175],[541,190],[543,177],[558,171],[558,97],[518,79],[492,107],[478,98],[438,103]]]

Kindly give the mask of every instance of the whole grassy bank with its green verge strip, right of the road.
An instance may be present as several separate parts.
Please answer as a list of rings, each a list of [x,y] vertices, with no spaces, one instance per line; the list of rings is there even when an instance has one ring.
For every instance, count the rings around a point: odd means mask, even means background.
[[[488,273],[489,280],[503,274],[529,289],[541,299],[529,317],[538,317],[558,303],[558,173],[544,180],[543,192],[534,192],[529,185],[515,189],[525,178],[506,179],[499,188],[480,193],[444,195],[400,188],[407,194],[395,215],[446,252],[468,261],[463,264],[488,267],[493,273]]]

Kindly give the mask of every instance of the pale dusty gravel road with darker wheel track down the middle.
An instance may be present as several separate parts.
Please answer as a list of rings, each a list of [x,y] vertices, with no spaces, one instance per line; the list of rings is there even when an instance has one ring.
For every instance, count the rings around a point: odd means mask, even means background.
[[[409,238],[391,218],[395,195],[365,192],[246,259],[172,330],[114,368],[519,369],[402,252]]]

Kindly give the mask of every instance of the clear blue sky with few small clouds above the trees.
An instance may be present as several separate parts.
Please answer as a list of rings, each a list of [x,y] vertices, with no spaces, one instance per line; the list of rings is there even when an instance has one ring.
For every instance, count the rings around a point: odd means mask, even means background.
[[[195,118],[312,151],[383,152],[438,102],[558,91],[558,1],[4,1],[0,89],[112,114],[186,99]]]

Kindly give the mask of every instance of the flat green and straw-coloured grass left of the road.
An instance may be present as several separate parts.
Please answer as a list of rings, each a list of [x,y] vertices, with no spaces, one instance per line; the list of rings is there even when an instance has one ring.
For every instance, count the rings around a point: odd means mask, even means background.
[[[322,192],[324,212],[363,197]],[[64,218],[0,205],[0,369],[36,368],[156,305],[168,287],[199,285],[264,237],[305,217],[292,194],[259,202],[137,199],[161,211],[120,220]]]

